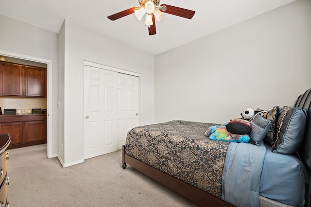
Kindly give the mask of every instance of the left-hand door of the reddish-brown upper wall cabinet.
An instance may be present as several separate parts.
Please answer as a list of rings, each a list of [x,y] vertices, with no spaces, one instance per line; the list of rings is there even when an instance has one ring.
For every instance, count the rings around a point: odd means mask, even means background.
[[[22,96],[22,65],[0,63],[0,95]]]

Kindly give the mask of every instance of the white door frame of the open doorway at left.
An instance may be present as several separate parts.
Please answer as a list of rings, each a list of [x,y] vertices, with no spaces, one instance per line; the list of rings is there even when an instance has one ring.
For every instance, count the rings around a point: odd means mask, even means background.
[[[57,155],[55,155],[55,154],[53,155],[53,139],[58,140],[58,138],[57,138],[57,135],[53,137],[53,133],[52,133],[53,132],[53,125],[52,125],[52,123],[53,123],[52,122],[52,119],[53,119],[53,112],[52,112],[52,93],[53,93],[53,91],[52,91],[52,60],[38,58],[38,57],[24,55],[24,54],[19,54],[19,53],[15,53],[15,52],[1,51],[1,50],[0,50],[0,55],[47,64],[47,73],[48,73],[47,156],[48,156],[48,158],[56,157]]]

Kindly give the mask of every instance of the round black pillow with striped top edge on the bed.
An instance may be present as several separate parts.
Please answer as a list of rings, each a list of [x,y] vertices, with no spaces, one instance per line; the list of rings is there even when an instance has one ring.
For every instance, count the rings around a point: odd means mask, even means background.
[[[229,121],[225,127],[230,133],[245,135],[251,131],[251,122],[243,119],[234,119]]]

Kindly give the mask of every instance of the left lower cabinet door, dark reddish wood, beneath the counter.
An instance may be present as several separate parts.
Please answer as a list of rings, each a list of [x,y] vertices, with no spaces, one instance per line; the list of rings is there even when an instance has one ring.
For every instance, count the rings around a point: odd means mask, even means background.
[[[22,137],[22,122],[14,123],[1,123],[0,134],[10,134],[11,145],[21,144],[23,142]]]

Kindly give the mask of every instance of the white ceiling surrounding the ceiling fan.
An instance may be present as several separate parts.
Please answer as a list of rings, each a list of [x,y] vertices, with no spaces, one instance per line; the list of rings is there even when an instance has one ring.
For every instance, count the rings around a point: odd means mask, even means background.
[[[164,14],[149,35],[144,20],[134,14],[115,21],[107,18],[134,6],[138,0],[0,0],[0,15],[58,33],[64,19],[95,32],[159,54],[231,25],[258,16],[294,0],[161,0],[195,11],[192,19]]]

